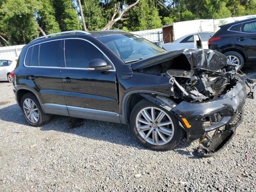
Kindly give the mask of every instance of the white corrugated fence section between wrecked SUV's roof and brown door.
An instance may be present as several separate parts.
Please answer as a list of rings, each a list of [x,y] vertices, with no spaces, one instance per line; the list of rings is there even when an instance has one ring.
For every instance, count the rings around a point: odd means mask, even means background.
[[[151,42],[156,42],[156,41],[162,41],[163,40],[163,30],[162,28],[159,29],[150,29],[150,30],[144,30],[144,31],[134,31],[131,32],[133,34],[142,36],[143,38],[151,41]]]

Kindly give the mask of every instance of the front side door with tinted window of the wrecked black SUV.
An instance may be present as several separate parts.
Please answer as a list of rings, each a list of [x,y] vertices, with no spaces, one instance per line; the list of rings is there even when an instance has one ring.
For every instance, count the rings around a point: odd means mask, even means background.
[[[62,68],[61,76],[69,115],[97,120],[108,120],[105,119],[108,115],[116,117],[118,95],[114,66],[87,40],[66,39],[64,44],[66,68]],[[88,70],[93,59],[105,60],[112,65],[112,70]]]

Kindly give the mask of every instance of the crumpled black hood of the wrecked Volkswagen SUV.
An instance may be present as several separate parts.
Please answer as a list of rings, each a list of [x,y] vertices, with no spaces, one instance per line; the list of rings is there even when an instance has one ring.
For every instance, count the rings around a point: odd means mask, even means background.
[[[204,68],[217,71],[228,65],[226,56],[220,52],[210,49],[181,49],[163,52],[162,54],[139,60],[131,64],[131,66],[133,70],[143,69],[172,60],[182,54],[188,59],[191,70],[194,68]]]

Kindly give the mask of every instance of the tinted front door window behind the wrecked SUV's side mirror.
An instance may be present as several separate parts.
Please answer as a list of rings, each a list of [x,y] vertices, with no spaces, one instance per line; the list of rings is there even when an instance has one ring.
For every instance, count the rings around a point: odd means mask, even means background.
[[[93,59],[108,61],[104,55],[92,44],[80,39],[65,40],[66,67],[87,68]]]

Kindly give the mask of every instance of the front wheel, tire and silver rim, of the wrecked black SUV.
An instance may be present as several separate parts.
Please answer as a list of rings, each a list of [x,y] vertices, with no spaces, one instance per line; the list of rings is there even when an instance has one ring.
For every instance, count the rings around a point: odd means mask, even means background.
[[[179,144],[183,135],[177,118],[148,100],[134,106],[130,126],[137,140],[152,150],[171,150]]]

